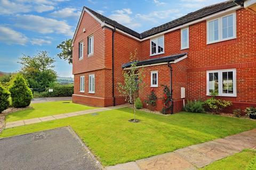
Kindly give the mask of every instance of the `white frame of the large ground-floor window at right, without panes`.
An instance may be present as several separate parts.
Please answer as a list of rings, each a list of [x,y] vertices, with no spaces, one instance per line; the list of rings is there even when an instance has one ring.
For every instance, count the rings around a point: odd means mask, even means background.
[[[233,94],[223,94],[222,93],[222,72],[233,72]],[[226,70],[211,70],[211,71],[206,71],[206,95],[211,96],[209,92],[209,73],[216,73],[218,72],[218,94],[219,96],[227,96],[227,97],[236,97],[236,69],[226,69]]]

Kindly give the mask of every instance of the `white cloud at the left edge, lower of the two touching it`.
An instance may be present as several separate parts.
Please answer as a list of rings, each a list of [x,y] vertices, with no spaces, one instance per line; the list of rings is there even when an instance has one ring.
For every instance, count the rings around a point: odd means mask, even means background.
[[[25,45],[28,41],[28,38],[22,33],[17,32],[11,28],[0,26],[0,41],[9,45]]]

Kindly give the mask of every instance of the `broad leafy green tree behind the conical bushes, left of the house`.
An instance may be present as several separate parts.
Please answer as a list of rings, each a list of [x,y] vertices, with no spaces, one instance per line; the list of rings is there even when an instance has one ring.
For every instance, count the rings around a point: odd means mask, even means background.
[[[57,73],[53,70],[55,60],[47,52],[39,52],[33,57],[23,55],[19,60],[22,65],[20,73],[28,80],[30,88],[44,89],[56,81]]]

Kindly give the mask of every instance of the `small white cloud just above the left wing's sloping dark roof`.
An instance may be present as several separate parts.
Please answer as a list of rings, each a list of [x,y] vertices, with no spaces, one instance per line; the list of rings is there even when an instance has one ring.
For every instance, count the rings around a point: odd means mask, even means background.
[[[132,10],[130,8],[123,8],[122,10],[116,10],[109,16],[110,19],[115,20],[126,27],[135,28],[140,27],[141,24],[135,21],[132,17]]]

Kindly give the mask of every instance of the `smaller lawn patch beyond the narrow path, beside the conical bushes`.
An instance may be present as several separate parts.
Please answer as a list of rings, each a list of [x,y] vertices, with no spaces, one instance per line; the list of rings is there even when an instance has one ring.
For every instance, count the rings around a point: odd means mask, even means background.
[[[63,103],[63,102],[70,102],[70,103]],[[44,116],[70,113],[70,112],[76,112],[76,111],[84,111],[87,109],[95,108],[95,107],[74,104],[72,103],[72,101],[51,101],[51,102],[31,104],[30,106],[33,108],[8,114],[7,116],[5,116],[6,122],[13,122],[13,121],[25,120],[29,118],[44,117]]]

